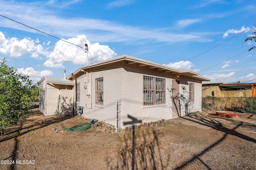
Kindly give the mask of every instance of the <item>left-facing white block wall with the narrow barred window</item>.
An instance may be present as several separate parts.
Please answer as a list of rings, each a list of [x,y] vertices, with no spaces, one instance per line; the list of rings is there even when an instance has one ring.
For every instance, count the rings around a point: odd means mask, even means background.
[[[95,79],[103,77],[104,99],[103,105],[95,104]],[[116,121],[116,100],[122,98],[122,68],[112,68],[108,70],[93,70],[92,77],[89,70],[89,81],[91,83],[92,94],[92,108],[85,107],[86,97],[81,93],[80,106],[84,107],[83,116],[91,119],[98,119],[115,125]],[[80,82],[80,84],[82,84]],[[91,101],[91,99],[90,99]],[[88,101],[87,101],[88,102]],[[91,103],[91,102],[90,102]]]

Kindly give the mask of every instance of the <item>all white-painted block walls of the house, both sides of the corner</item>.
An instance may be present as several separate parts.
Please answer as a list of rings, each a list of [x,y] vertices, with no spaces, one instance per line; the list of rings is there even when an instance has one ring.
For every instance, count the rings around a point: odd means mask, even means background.
[[[89,70],[89,81],[91,83],[92,94],[88,98],[87,92],[83,89],[84,79],[82,77],[77,79],[80,82],[81,93],[79,105],[84,107],[83,116],[88,118],[98,119],[99,121],[105,121],[115,125],[116,121],[116,100],[122,102],[122,121],[130,122],[132,119],[128,118],[128,115],[135,119],[141,120],[142,123],[149,121],[158,121],[160,119],[172,118],[172,100],[171,93],[168,91],[172,85],[172,80],[175,76],[165,74],[162,72],[154,72],[152,70],[146,70],[143,68],[136,68],[131,66],[115,66],[112,68],[105,68],[101,70],[93,70],[92,75]],[[164,105],[155,106],[143,106],[143,75],[166,78],[166,103]],[[92,77],[91,77],[92,76]],[[104,80],[104,105],[95,104],[95,78],[103,77]],[[192,104],[191,111],[201,111],[201,84],[195,82],[193,79],[179,78],[180,80],[180,94],[187,95],[189,90],[189,82],[195,84],[195,102]],[[185,86],[186,90],[182,90],[182,86]],[[74,87],[75,88],[75,87]],[[74,93],[76,94],[76,92]],[[91,99],[92,98],[92,99]],[[87,107],[86,103],[92,101],[92,108]],[[181,114],[185,115],[185,108],[182,106]],[[122,128],[131,126],[123,125]]]

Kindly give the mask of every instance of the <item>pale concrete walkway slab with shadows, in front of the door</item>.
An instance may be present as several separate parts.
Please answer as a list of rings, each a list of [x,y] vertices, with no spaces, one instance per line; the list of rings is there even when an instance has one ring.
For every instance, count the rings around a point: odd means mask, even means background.
[[[222,123],[220,120],[209,119],[206,117],[196,117],[192,115],[176,117],[167,121],[172,123],[180,123],[188,126],[194,126],[201,129],[211,129]]]

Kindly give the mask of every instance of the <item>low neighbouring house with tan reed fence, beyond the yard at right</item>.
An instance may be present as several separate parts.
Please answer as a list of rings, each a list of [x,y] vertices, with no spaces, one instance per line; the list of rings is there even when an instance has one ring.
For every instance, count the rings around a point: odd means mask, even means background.
[[[202,82],[202,97],[256,97],[256,83]]]

